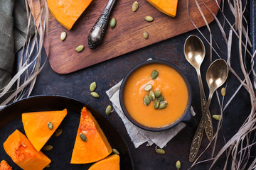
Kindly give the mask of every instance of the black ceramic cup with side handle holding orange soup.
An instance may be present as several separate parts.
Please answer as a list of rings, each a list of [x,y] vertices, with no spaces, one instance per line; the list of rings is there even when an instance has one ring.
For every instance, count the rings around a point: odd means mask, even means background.
[[[181,77],[183,77],[183,80],[186,82],[186,86],[188,89],[188,103],[186,106],[186,109],[183,113],[183,115],[181,116],[181,118],[179,118],[178,120],[176,120],[176,122],[171,123],[170,125],[166,125],[164,127],[159,127],[159,128],[151,128],[151,127],[147,127],[142,125],[141,123],[137,122],[136,120],[134,120],[128,113],[127,108],[125,107],[124,104],[124,87],[127,83],[127,80],[129,79],[129,77],[139,68],[144,67],[147,64],[165,64],[173,69],[175,69],[179,74],[181,74]],[[134,125],[137,125],[139,128],[142,128],[144,130],[150,130],[150,131],[161,131],[161,130],[168,130],[170,128],[173,128],[174,126],[178,125],[178,123],[188,123],[191,125],[195,125],[196,124],[196,120],[193,118],[193,116],[191,115],[191,86],[188,83],[188,79],[186,78],[186,76],[181,72],[180,69],[178,69],[178,67],[176,67],[174,64],[171,64],[170,62],[165,62],[162,60],[151,60],[151,61],[146,61],[146,62],[142,62],[141,64],[138,64],[136,67],[134,67],[131,71],[128,72],[128,74],[126,75],[126,77],[124,77],[124,80],[122,81],[121,87],[120,87],[120,91],[119,91],[119,101],[122,107],[122,111],[124,112],[124,114],[127,116],[127,118],[134,123]]]

